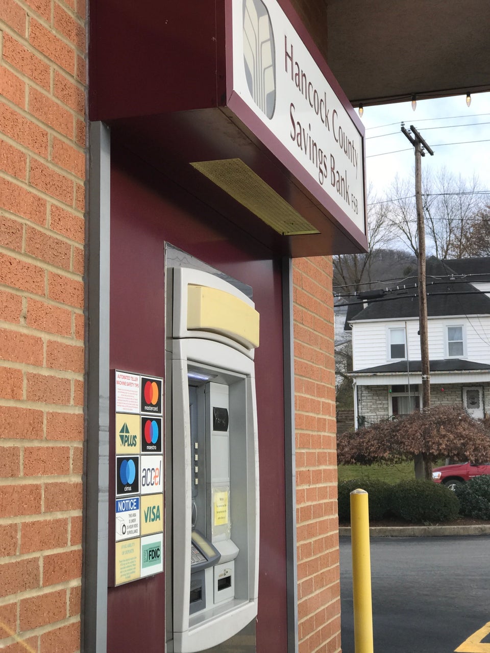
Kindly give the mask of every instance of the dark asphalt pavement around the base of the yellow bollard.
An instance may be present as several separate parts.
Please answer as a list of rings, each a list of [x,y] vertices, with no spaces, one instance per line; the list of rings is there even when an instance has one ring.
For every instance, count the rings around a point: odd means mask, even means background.
[[[374,653],[490,653],[490,535],[376,538],[370,553]],[[354,653],[348,537],[340,586],[342,651]]]

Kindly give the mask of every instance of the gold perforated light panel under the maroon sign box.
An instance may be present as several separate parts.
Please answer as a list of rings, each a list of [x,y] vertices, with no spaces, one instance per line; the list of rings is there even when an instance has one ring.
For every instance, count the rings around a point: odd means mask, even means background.
[[[241,159],[197,161],[191,165],[283,236],[319,233]]]

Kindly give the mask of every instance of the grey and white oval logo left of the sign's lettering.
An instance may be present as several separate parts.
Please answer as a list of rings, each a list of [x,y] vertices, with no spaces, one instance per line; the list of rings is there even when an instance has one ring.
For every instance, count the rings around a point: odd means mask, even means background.
[[[250,95],[272,118],[276,108],[276,54],[269,12],[262,0],[243,0],[243,59]]]

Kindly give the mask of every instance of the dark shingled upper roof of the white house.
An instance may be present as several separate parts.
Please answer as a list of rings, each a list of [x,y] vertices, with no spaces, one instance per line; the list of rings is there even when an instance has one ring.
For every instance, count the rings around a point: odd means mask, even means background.
[[[457,261],[439,261],[434,257],[427,259],[427,315],[490,315],[490,298],[480,293],[461,275],[474,274],[474,282],[480,275],[488,279],[490,257],[478,259],[459,259]],[[486,270],[486,272],[485,272]],[[417,278],[415,276],[402,280],[387,290],[381,297],[364,297],[363,293],[350,303],[346,317],[349,322],[364,320],[405,319],[419,316],[419,297]],[[367,306],[363,308],[363,302]]]

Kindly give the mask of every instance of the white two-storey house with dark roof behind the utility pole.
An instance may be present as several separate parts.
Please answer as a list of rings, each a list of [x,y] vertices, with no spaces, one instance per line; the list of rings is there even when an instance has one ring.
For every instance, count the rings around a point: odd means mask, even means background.
[[[421,407],[416,278],[351,302],[355,423]],[[490,258],[427,261],[431,405],[490,414]]]

